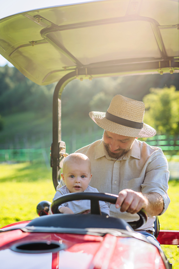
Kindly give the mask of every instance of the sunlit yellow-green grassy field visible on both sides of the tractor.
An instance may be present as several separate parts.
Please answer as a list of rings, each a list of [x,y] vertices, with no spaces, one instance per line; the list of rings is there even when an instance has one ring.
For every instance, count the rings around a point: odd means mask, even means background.
[[[43,163],[0,164],[0,227],[37,217],[36,206],[42,200],[52,201],[55,189],[51,171]],[[179,181],[169,182],[171,203],[159,217],[161,230],[179,230]],[[177,246],[162,245],[172,268],[179,268]]]

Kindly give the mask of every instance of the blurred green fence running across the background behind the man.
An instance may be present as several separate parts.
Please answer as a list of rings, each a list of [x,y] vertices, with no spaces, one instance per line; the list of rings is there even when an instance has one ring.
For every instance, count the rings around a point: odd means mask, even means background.
[[[81,147],[87,146],[95,140],[102,138],[103,129],[92,130],[89,129],[85,134],[76,134],[75,131],[72,132],[72,135],[62,135],[62,140],[66,143],[66,152],[72,153],[75,150],[80,149]],[[158,146],[163,151],[178,151],[179,150],[179,136],[170,136],[165,135],[156,135],[155,137],[149,137],[146,139],[146,143],[150,146]],[[31,147],[26,149],[15,148],[16,145],[12,146],[10,144],[9,149],[0,149],[0,162],[3,161],[37,161],[44,160],[46,163],[50,161],[50,145],[51,141],[46,143],[41,143],[45,147]],[[169,153],[168,153],[169,154]],[[174,152],[171,152],[171,155],[175,155]],[[167,155],[168,159],[171,159],[170,155]],[[175,157],[176,156],[176,157]],[[179,155],[172,156],[172,160],[178,160]]]

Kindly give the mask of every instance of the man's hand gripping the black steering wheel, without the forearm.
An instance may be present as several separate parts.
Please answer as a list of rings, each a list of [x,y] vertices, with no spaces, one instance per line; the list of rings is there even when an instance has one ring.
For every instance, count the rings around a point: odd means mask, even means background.
[[[132,189],[123,189],[119,192],[116,201],[116,208],[121,207],[121,212],[129,212],[135,214],[148,205],[147,198],[141,192],[135,192]]]

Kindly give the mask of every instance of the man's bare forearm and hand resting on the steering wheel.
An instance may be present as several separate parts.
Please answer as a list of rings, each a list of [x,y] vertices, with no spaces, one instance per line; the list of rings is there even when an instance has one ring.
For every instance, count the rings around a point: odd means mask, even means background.
[[[162,196],[157,192],[141,193],[132,189],[123,189],[119,192],[116,201],[116,208],[121,207],[121,212],[135,214],[142,208],[149,217],[160,215],[163,211],[164,203]]]

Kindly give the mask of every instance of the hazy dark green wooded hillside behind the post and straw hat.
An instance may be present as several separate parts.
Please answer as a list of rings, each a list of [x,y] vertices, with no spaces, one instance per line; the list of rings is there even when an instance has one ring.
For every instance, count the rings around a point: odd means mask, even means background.
[[[62,136],[98,128],[89,112],[106,112],[116,94],[141,101],[150,88],[171,85],[179,90],[179,74],[73,80],[62,93]],[[29,137],[41,140],[42,134],[45,140],[51,139],[54,88],[55,84],[36,85],[14,67],[0,67],[0,115],[4,121],[4,129],[0,128],[1,145]]]

